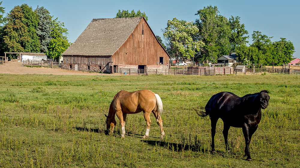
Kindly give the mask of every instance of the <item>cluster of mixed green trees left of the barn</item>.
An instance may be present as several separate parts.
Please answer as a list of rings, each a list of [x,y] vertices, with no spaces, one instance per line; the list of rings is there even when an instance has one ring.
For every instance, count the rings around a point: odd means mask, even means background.
[[[27,4],[15,6],[3,17],[5,8],[0,2],[0,52],[45,53],[48,58],[58,58],[71,43],[64,23],[53,19],[42,7],[32,10]],[[10,57],[13,57],[11,55]]]

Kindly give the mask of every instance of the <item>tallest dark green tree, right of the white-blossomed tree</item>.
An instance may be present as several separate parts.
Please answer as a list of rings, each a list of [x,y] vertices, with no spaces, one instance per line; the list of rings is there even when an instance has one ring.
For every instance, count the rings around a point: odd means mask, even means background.
[[[235,52],[239,45],[246,44],[249,36],[244,24],[241,24],[240,17],[229,18],[219,14],[216,6],[211,5],[197,11],[199,16],[195,24],[199,28],[198,39],[204,42],[204,46],[197,57],[210,62],[217,62],[221,55],[228,55]]]

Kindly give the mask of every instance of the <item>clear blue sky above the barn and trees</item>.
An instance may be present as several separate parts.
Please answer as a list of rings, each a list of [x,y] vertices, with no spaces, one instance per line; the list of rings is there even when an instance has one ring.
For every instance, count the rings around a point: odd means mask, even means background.
[[[118,10],[134,10],[145,12],[148,24],[155,33],[161,36],[161,29],[167,27],[167,21],[173,18],[194,22],[198,17],[195,13],[208,5],[217,6],[220,14],[227,18],[240,16],[241,23],[248,31],[249,43],[252,44],[253,31],[260,31],[269,37],[272,42],[286,38],[295,47],[293,57],[300,58],[300,28],[298,0],[3,0],[2,7],[8,13],[14,6],[28,4],[32,9],[44,6],[50,15],[64,22],[69,30],[69,41],[74,42],[92,19],[114,18]],[[5,16],[5,14],[4,14]]]

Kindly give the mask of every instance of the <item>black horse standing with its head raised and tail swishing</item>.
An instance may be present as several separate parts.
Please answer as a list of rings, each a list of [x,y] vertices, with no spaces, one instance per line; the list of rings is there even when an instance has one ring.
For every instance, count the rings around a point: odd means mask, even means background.
[[[221,118],[224,122],[223,135],[226,149],[230,150],[227,140],[230,126],[242,128],[246,143],[245,155],[247,161],[251,161],[249,143],[261,120],[261,109],[268,107],[269,99],[268,91],[265,90],[259,93],[247,94],[243,97],[238,97],[231,92],[220,92],[210,98],[205,106],[205,111],[196,110],[199,116],[209,115],[211,120],[211,152],[216,153],[214,150],[214,135],[216,134],[217,121]]]

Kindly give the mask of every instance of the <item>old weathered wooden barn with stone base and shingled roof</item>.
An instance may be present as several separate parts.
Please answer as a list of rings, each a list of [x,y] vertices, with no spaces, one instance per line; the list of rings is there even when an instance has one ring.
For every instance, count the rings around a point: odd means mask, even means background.
[[[64,69],[167,69],[169,54],[143,17],[93,19],[63,55]]]

